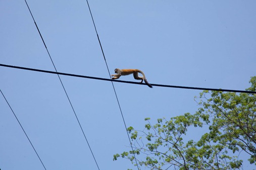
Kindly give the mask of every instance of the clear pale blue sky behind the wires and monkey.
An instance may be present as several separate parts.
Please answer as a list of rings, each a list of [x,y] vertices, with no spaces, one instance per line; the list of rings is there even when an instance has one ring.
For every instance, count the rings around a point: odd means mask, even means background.
[[[85,0],[27,3],[59,72],[109,78]],[[138,68],[149,83],[232,90],[248,88],[256,75],[256,1],[89,5],[111,74]],[[25,1],[0,1],[0,15],[0,63],[54,71]],[[0,75],[0,88],[46,169],[97,169],[56,74],[0,67]],[[113,161],[130,148],[111,82],[61,78],[99,168],[136,169],[129,160]],[[127,126],[140,130],[146,117],[155,124],[195,113],[194,96],[201,92],[114,85]],[[44,169],[2,95],[0,138],[2,170]]]

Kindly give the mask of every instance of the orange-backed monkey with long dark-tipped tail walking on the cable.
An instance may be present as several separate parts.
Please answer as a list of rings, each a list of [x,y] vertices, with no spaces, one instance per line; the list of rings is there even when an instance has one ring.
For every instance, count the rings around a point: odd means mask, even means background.
[[[138,76],[138,72],[141,73],[141,74],[143,75],[143,77]],[[147,84],[147,86],[148,86],[149,88],[153,88],[153,87],[151,86],[151,84],[149,84],[149,83],[147,82],[146,77],[145,77],[145,74],[144,74],[141,70],[139,70],[139,69],[119,69],[119,68],[116,68],[116,69],[115,69],[115,73],[117,73],[117,74],[112,74],[112,75],[111,75],[111,76],[112,76],[112,79],[117,79],[117,78],[119,78],[121,75],[129,75],[129,74],[132,74],[132,73],[133,73],[133,77],[134,77],[135,79],[141,79],[140,82],[142,82],[142,81],[144,80],[145,83]]]

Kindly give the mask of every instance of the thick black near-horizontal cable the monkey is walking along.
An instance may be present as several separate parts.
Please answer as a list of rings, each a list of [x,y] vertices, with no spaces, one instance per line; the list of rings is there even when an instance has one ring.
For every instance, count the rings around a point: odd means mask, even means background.
[[[35,69],[35,68],[20,67],[20,66],[7,65],[7,64],[0,64],[0,66],[10,67],[10,68],[18,68],[18,69],[24,69],[24,70],[30,70],[30,71],[52,73],[52,74],[59,74],[59,75],[67,75],[67,76],[73,76],[73,77],[90,78],[90,79],[98,79],[98,80],[105,80],[105,81],[115,81],[115,82],[124,82],[124,83],[140,84],[140,85],[146,85],[147,86],[147,84],[145,84],[145,83],[134,82],[134,81],[124,81],[124,80],[117,80],[117,79],[92,77],[92,76],[86,76],[86,75],[71,74],[71,73],[64,73],[64,72],[55,72],[55,71],[48,71],[48,70],[41,70],[41,69]],[[187,87],[187,86],[172,86],[172,85],[165,85],[165,84],[151,84],[151,85],[152,86],[157,86],[157,87],[165,87],[165,88],[178,88],[178,89],[208,90],[208,91],[219,91],[219,92],[235,92],[235,93],[256,94],[256,92],[241,91],[241,90],[197,88],[197,87]]]

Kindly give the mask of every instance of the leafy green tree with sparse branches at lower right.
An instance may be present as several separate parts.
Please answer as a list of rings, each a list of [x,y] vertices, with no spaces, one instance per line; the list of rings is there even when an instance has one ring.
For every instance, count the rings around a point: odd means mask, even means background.
[[[255,92],[256,76],[249,82],[246,90]],[[200,108],[195,114],[158,119],[155,125],[146,118],[144,130],[127,129],[140,167],[242,169],[243,160],[237,156],[241,151],[256,164],[256,95],[203,91],[198,99]],[[198,139],[183,139],[202,127]],[[136,165],[132,150],[115,154],[114,160],[118,157]]]

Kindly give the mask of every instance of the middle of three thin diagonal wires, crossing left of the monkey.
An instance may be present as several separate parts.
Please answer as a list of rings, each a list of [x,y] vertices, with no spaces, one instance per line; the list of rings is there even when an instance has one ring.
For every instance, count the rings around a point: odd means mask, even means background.
[[[29,6],[28,6],[28,4],[27,4],[27,1],[25,0],[25,2],[26,2],[26,5],[27,5],[27,7],[28,7],[28,10],[29,10],[29,12],[30,12],[30,14],[31,14],[31,17],[33,18],[33,21],[34,21],[34,23],[35,23],[35,26],[36,26],[36,28],[37,28],[37,31],[38,31],[38,33],[40,34],[40,37],[41,37],[42,42],[43,42],[43,44],[44,44],[44,47],[45,47],[45,49],[46,49],[46,51],[47,51],[47,53],[48,53],[48,55],[49,55],[49,57],[50,57],[50,60],[52,61],[53,65],[54,65],[55,71],[57,72],[57,69],[56,69],[56,67],[55,67],[54,61],[53,61],[52,57],[50,56],[50,53],[49,53],[49,51],[48,51],[48,49],[47,49],[47,47],[46,47],[46,45],[45,45],[45,43],[44,43],[44,40],[43,40],[43,38],[42,38],[42,35],[41,35],[41,33],[40,33],[40,31],[39,31],[37,25],[36,25],[36,22],[35,22],[34,17],[33,17],[32,13],[31,13],[31,11],[30,11],[30,8],[29,8]],[[67,94],[67,91],[66,91],[66,89],[65,89],[65,87],[64,87],[64,85],[63,85],[63,82],[62,82],[61,77],[60,77],[59,74],[58,74],[58,77],[59,77],[59,79],[60,79],[60,81],[61,81],[62,87],[63,87],[64,92],[65,92],[65,94],[66,94],[66,96],[67,96],[67,98],[68,98],[68,101],[69,101],[69,103],[70,103],[70,106],[71,106],[71,108],[72,108],[72,110],[73,110],[73,112],[74,112],[74,114],[75,114],[75,116],[76,116],[77,122],[78,122],[78,124],[79,124],[79,126],[80,126],[80,128],[81,128],[81,130],[82,130],[82,133],[83,133],[83,135],[84,135],[84,138],[85,138],[85,140],[86,140],[86,142],[87,142],[87,144],[88,144],[88,146],[89,146],[89,149],[90,149],[90,151],[91,151],[91,154],[92,154],[92,156],[93,156],[93,159],[94,159],[94,161],[95,161],[95,163],[96,163],[96,165],[97,165],[97,167],[98,167],[98,163],[97,163],[97,161],[96,161],[96,159],[95,159],[95,157],[94,157],[94,155],[93,155],[93,152],[92,152],[92,150],[91,150],[91,147],[90,147],[90,145],[89,145],[89,142],[88,142],[88,140],[87,140],[87,138],[86,138],[86,136],[85,136],[85,133],[84,133],[84,131],[83,131],[83,128],[82,128],[82,126],[81,126],[81,124],[80,124],[80,122],[79,122],[79,119],[78,119],[78,117],[77,117],[77,115],[76,115],[76,112],[75,112],[75,110],[74,110],[74,108],[73,108],[73,105],[72,105],[72,103],[71,103],[71,101],[70,101],[70,99],[69,99],[69,96],[68,96],[68,94]],[[98,167],[98,169],[99,169],[99,167]]]

